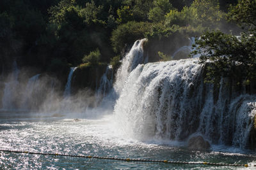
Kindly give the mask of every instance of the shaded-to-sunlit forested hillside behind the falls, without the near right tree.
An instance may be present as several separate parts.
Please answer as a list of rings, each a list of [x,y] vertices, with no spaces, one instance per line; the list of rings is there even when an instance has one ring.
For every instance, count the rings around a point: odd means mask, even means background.
[[[136,39],[168,38],[175,31],[198,35],[221,27],[220,8],[225,11],[230,3],[236,1],[3,0],[0,43],[10,48],[1,49],[0,57],[21,56],[25,66],[56,71],[82,64],[84,56],[99,49],[97,62],[109,63]]]

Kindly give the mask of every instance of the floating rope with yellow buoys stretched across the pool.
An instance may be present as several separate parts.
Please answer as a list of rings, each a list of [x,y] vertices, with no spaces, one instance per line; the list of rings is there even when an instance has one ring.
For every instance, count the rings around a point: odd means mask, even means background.
[[[248,164],[222,164],[222,163],[212,163],[212,162],[184,162],[184,161],[171,161],[171,160],[154,160],[154,159],[122,159],[116,157],[98,157],[91,155],[67,155],[62,153],[42,153],[42,152],[28,152],[28,151],[17,151],[17,150],[0,150],[1,152],[11,152],[11,153],[28,153],[33,155],[54,155],[54,156],[63,156],[63,157],[79,157],[87,159],[109,159],[109,160],[123,160],[127,162],[160,162],[168,164],[198,164],[198,165],[207,165],[207,166],[244,166],[248,167]]]

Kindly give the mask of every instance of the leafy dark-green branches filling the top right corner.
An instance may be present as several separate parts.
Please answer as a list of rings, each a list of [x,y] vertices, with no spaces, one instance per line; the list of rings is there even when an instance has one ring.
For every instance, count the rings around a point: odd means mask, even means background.
[[[236,6],[230,6],[228,19],[248,29],[256,28],[256,0],[238,1]]]

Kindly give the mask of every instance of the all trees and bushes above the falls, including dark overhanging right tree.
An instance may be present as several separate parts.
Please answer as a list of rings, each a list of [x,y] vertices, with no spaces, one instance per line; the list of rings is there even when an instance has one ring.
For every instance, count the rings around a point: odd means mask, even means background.
[[[248,83],[256,77],[255,6],[255,0],[3,0],[0,69],[17,56],[24,66],[66,76],[70,66],[111,63],[116,69],[124,49],[141,38],[148,38],[151,61],[170,60],[173,50],[186,45],[177,39],[207,31],[195,51],[205,52],[202,62],[214,61],[207,81],[236,74]],[[232,22],[244,29],[239,39],[232,36],[240,31]]]

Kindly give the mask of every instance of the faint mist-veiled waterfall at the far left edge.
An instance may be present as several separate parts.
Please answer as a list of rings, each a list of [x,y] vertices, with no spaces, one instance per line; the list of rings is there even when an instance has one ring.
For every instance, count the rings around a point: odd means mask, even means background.
[[[2,97],[2,109],[3,110],[13,110],[17,108],[17,103],[15,98],[19,96],[19,69],[17,66],[17,62],[13,62],[13,71],[12,74],[8,76],[8,81],[4,83],[4,92]]]

